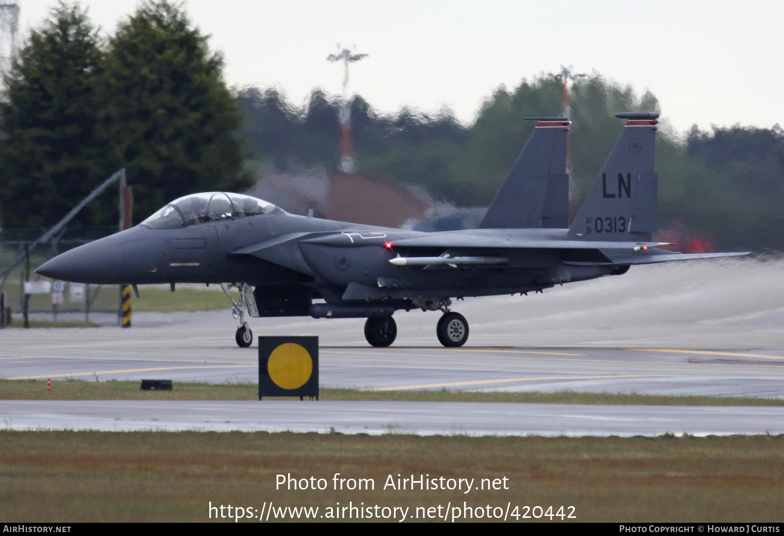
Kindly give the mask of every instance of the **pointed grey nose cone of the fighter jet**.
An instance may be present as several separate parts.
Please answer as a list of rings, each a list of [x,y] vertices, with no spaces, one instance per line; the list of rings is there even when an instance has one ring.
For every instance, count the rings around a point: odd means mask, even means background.
[[[60,281],[91,284],[120,283],[122,248],[115,237],[105,237],[57,255],[35,273]]]

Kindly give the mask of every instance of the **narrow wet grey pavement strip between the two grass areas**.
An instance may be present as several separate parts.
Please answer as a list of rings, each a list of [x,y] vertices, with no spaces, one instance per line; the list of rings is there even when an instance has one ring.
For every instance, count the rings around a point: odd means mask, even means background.
[[[784,433],[784,407],[465,402],[4,400],[6,429],[695,436]]]

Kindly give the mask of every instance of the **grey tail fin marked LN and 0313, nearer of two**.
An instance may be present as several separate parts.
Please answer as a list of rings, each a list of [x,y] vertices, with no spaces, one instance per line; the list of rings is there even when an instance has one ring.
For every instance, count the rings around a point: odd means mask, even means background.
[[[626,126],[580,207],[572,240],[651,241],[658,226],[658,179],[653,172],[658,112],[622,112]]]

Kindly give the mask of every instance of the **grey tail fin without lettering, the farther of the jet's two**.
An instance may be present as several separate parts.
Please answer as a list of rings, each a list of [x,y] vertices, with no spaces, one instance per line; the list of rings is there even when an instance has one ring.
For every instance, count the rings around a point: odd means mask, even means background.
[[[567,118],[539,121],[488,208],[481,229],[568,227]]]

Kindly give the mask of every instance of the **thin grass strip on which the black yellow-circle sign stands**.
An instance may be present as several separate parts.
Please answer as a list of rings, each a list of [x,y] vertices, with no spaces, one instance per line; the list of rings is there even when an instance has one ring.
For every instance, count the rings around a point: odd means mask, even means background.
[[[258,400],[259,388],[250,382],[189,383],[174,382],[171,391],[142,391],[140,382],[90,382],[66,379],[52,382],[46,391],[45,380],[0,379],[0,400]],[[320,400],[399,400],[411,402],[517,402],[523,404],[611,404],[677,406],[784,406],[773,398],[655,396],[637,393],[555,393],[504,391],[365,391],[361,389],[319,389]],[[266,400],[266,399],[265,399]],[[285,400],[285,399],[280,399]],[[290,400],[290,399],[289,399]]]

